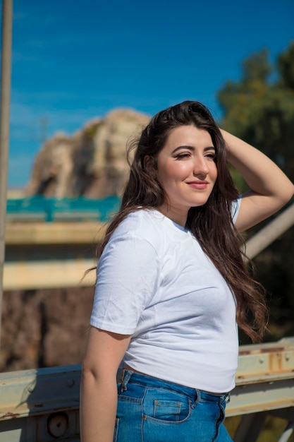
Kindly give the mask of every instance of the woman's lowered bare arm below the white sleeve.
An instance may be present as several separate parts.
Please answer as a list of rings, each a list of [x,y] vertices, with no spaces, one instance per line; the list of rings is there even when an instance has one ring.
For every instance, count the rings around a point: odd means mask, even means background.
[[[116,422],[116,372],[130,342],[91,327],[82,362],[80,436],[82,442],[112,442]]]

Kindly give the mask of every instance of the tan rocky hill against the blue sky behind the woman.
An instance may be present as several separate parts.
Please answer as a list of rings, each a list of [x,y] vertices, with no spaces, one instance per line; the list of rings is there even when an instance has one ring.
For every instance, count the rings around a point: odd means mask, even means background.
[[[88,122],[73,136],[56,133],[37,154],[25,196],[119,195],[128,173],[126,143],[148,121],[145,114],[116,109]]]

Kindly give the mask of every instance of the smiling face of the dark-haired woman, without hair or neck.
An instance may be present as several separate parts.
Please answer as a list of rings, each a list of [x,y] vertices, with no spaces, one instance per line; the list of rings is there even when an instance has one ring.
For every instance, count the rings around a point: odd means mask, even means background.
[[[178,126],[157,157],[156,178],[174,210],[188,213],[207,202],[217,178],[215,149],[207,131]]]

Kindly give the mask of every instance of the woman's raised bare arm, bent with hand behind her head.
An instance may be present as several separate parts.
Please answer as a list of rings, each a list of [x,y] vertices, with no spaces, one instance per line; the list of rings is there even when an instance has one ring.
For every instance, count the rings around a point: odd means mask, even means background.
[[[243,176],[250,191],[242,198],[235,227],[243,232],[283,207],[294,186],[274,162],[252,145],[221,129],[228,148],[228,162]]]

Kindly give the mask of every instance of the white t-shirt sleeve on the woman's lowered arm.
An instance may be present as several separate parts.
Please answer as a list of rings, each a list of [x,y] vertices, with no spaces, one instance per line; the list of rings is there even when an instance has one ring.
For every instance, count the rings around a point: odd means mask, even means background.
[[[90,324],[131,335],[159,280],[157,251],[144,237],[116,229],[97,266]]]

